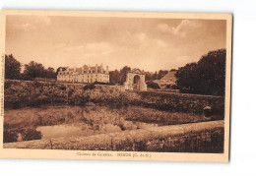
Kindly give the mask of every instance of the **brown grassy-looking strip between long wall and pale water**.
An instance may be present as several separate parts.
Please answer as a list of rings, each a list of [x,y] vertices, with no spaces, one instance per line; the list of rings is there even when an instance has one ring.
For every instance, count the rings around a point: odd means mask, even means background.
[[[115,109],[107,106],[46,106],[44,108],[23,108],[5,111],[6,129],[28,128],[85,122],[88,124],[121,125],[124,120],[175,125],[202,122],[204,115],[160,111],[153,108],[128,106]]]

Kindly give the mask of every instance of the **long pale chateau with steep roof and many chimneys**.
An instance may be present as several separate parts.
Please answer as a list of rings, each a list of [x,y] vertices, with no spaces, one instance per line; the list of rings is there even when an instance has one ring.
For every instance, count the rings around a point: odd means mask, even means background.
[[[108,66],[103,69],[103,65],[91,67],[84,65],[82,68],[60,68],[57,75],[59,82],[72,82],[72,83],[109,83]]]

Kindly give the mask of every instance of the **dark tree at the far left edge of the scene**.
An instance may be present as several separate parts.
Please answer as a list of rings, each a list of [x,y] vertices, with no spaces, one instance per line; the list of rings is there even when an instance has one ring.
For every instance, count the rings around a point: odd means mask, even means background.
[[[21,63],[13,55],[5,55],[5,79],[20,79]]]

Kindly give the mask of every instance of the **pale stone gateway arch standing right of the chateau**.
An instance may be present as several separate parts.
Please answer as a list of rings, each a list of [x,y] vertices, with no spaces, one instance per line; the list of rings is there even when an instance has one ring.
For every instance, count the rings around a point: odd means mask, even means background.
[[[126,81],[124,83],[125,89],[131,90],[147,90],[145,83],[145,73],[139,69],[133,69],[126,75]]]

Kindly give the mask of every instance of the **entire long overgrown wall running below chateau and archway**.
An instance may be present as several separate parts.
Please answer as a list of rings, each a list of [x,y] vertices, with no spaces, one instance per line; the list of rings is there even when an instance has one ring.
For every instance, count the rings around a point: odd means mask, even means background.
[[[224,115],[224,97],[161,91],[125,91],[122,86],[5,82],[5,108],[41,104],[83,105],[88,102],[137,105],[174,112],[202,113],[211,106],[215,114]]]

